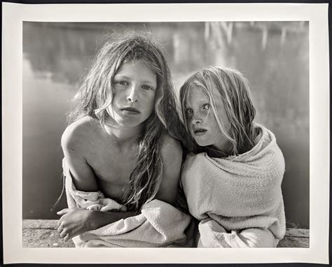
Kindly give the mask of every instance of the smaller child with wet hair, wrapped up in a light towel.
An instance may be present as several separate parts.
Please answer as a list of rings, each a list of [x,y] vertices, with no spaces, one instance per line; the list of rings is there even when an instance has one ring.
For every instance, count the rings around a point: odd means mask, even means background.
[[[275,247],[284,237],[284,157],[254,122],[247,80],[208,67],[180,89],[188,150],[181,182],[198,219],[198,247]]]

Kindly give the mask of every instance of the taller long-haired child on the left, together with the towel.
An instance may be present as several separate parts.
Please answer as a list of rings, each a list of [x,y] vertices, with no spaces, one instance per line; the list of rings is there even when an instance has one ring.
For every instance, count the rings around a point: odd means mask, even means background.
[[[181,124],[158,45],[132,34],[106,43],[76,99],[62,135],[69,208],[57,213],[60,237],[78,247],[183,244],[191,217],[174,207]]]

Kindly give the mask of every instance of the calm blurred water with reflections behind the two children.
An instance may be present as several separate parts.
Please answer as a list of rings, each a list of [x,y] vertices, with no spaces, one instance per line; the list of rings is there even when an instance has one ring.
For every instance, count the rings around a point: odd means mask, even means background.
[[[284,153],[286,219],[309,226],[309,32],[306,22],[23,24],[23,218],[55,219],[62,189],[60,138],[71,98],[92,57],[113,32],[150,31],[163,44],[174,85],[202,66],[248,78],[256,121]],[[105,37],[107,36],[107,38]],[[62,200],[57,210],[64,208]]]

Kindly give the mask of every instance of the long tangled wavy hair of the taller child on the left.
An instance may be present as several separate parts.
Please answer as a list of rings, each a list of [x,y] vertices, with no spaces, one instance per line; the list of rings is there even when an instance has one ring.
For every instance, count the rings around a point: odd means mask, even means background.
[[[185,134],[177,112],[170,68],[160,46],[151,40],[151,36],[130,33],[104,44],[74,97],[76,107],[69,115],[69,123],[90,116],[101,126],[108,122],[111,126],[113,118],[108,113],[108,107],[113,99],[114,75],[122,64],[136,61],[144,62],[157,77],[155,108],[144,122],[137,166],[130,175],[130,189],[122,199],[129,210],[139,211],[144,203],[155,197],[160,187],[162,136],[169,133],[181,140]]]

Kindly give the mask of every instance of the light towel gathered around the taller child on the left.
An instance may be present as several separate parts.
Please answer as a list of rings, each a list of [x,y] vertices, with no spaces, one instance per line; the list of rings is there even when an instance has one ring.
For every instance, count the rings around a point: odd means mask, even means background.
[[[102,192],[81,192],[71,179],[67,162],[62,161],[69,208],[101,211],[125,211],[116,201],[104,198]],[[153,200],[137,216],[120,219],[73,238],[76,247],[180,247],[190,246],[186,231],[192,228],[191,217],[172,205]]]

